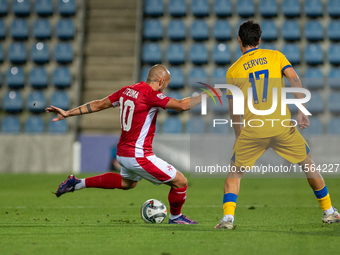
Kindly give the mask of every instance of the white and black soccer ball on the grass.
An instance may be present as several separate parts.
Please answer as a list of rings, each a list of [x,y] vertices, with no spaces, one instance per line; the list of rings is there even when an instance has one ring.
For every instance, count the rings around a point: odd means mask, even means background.
[[[149,199],[140,209],[142,219],[146,223],[162,223],[166,217],[167,210],[165,204],[157,199]]]

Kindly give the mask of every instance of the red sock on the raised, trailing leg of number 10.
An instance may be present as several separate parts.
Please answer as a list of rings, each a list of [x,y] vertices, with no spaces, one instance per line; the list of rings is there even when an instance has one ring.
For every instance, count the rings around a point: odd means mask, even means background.
[[[85,179],[86,188],[123,189],[122,176],[117,173],[105,173]]]

